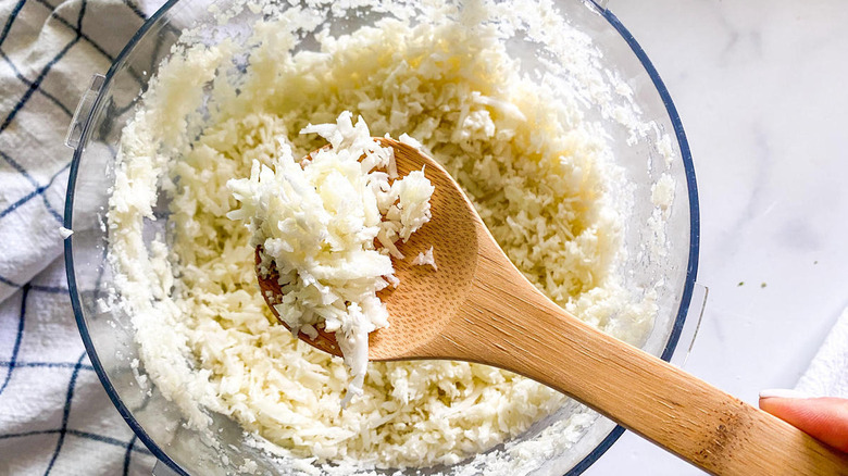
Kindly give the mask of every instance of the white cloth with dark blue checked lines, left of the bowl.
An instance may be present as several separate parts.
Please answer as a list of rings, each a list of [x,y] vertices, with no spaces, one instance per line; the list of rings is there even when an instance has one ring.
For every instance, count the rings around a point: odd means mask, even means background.
[[[73,111],[155,4],[0,1],[0,475],[149,475],[86,356],[61,259]]]

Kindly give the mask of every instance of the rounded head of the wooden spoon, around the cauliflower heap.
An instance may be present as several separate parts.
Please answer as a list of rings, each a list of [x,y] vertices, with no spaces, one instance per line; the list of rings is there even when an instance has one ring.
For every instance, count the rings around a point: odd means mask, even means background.
[[[432,218],[409,241],[398,241],[398,250],[406,256],[392,259],[395,276],[400,279],[397,288],[388,287],[377,293],[389,312],[389,326],[369,336],[369,359],[389,361],[425,358],[420,350],[432,340],[449,337],[448,322],[465,301],[477,267],[478,224],[481,218],[473,205],[450,175],[429,156],[419,150],[391,139],[379,138],[383,146],[395,149],[398,174],[404,176],[424,167],[424,176],[435,187],[431,199]],[[412,260],[433,247],[438,266],[413,265]],[[257,264],[260,262],[257,248]],[[267,276],[257,273],[262,296],[274,310],[274,297],[280,295],[275,272]],[[277,317],[279,317],[277,315]],[[303,333],[299,338],[309,345],[340,355],[336,337],[317,329],[313,340]]]

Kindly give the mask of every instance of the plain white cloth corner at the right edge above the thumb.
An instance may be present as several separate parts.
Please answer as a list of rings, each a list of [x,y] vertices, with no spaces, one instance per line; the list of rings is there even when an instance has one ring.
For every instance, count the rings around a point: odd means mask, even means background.
[[[836,320],[796,389],[816,397],[848,398],[848,308]]]

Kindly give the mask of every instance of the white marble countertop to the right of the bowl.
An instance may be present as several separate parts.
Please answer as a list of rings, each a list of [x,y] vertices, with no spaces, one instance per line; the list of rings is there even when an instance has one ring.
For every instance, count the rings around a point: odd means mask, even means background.
[[[791,388],[848,305],[848,3],[611,0],[691,146],[698,283],[685,368],[756,404]],[[584,473],[700,475],[625,434]]]

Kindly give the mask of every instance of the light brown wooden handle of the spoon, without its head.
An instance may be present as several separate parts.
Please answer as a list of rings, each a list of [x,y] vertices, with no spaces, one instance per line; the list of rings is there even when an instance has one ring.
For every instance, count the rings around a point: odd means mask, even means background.
[[[511,264],[478,273],[461,311],[467,335],[449,333],[467,342],[458,358],[553,387],[712,474],[848,475],[846,454],[568,315]]]

